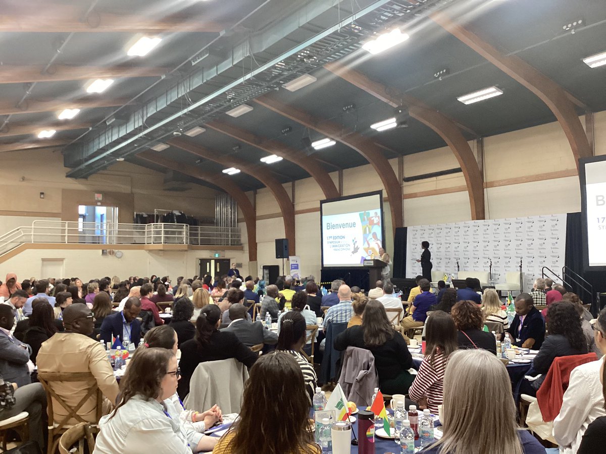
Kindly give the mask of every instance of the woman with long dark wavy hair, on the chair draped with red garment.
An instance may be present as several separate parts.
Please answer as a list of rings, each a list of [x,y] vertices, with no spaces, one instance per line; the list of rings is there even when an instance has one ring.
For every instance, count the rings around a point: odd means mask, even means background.
[[[582,355],[587,353],[587,340],[581,329],[581,318],[570,301],[558,301],[548,308],[549,334],[534,357],[532,368],[527,375],[541,377],[536,380],[522,380],[520,393],[536,396],[545,380],[547,372],[557,357]]]

